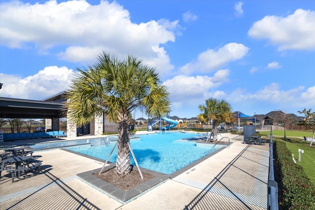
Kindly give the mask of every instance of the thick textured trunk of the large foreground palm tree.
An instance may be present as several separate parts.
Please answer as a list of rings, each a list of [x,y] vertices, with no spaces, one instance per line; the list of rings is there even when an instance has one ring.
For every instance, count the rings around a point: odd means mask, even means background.
[[[126,176],[131,171],[129,142],[129,125],[126,120],[118,123],[118,152],[116,158],[116,173]]]

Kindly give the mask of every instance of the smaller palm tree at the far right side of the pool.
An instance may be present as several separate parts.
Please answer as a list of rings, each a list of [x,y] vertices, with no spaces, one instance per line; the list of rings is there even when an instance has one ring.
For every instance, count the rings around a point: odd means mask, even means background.
[[[218,140],[217,126],[221,122],[229,122],[232,118],[232,107],[224,99],[218,100],[216,98],[209,98],[206,100],[205,105],[199,105],[201,114],[207,120],[213,120],[212,122],[212,133],[214,141]]]

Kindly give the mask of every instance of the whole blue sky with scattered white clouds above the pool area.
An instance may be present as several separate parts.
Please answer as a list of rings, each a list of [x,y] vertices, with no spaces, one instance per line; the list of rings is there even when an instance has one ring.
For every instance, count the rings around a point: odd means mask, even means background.
[[[0,1],[1,97],[66,90],[101,51],[155,67],[171,116],[211,97],[251,116],[315,110],[312,0]]]

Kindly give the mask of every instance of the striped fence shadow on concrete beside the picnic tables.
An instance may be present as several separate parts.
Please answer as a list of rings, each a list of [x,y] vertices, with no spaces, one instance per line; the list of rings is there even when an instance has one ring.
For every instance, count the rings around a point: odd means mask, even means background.
[[[50,173],[51,166],[43,166],[40,174],[11,183],[9,177],[0,180],[2,210],[12,209],[88,209],[99,210],[63,180]]]

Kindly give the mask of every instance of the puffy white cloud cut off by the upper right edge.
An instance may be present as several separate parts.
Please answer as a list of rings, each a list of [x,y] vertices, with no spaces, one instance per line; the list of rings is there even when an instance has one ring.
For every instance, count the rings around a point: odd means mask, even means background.
[[[265,16],[248,31],[252,38],[268,39],[278,50],[315,50],[315,11],[297,9],[287,17]]]

